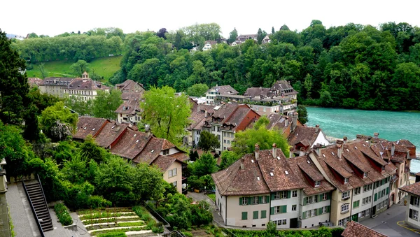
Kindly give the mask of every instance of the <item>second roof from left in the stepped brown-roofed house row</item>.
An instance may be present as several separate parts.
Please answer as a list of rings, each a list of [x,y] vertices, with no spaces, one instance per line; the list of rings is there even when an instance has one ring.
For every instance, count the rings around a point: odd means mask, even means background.
[[[102,148],[109,148],[111,143],[116,141],[127,127],[127,124],[118,124],[117,122],[106,123],[105,127],[99,131],[99,134],[96,134],[95,141]]]

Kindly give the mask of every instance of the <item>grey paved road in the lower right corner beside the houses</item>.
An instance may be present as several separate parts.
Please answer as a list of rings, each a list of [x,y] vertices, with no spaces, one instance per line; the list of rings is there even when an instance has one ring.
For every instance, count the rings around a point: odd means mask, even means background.
[[[389,237],[419,237],[420,235],[416,234],[414,231],[400,227],[400,225],[397,224],[397,222],[405,220],[406,210],[407,206],[395,204],[391,206],[391,208],[388,208],[388,210],[380,213],[378,217],[365,220],[360,222],[360,224],[370,227]]]

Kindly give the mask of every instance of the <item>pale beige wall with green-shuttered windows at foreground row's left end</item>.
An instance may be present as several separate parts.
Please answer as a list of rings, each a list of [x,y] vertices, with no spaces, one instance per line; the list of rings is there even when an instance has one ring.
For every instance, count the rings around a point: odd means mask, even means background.
[[[254,196],[269,196],[269,194],[258,194]],[[228,196],[226,204],[228,210],[226,210],[227,218],[226,224],[228,226],[235,227],[253,227],[265,228],[265,225],[269,221],[269,203],[256,204],[256,205],[239,205],[239,198],[246,196]],[[266,211],[266,217],[261,219],[261,210]],[[258,211],[258,219],[253,220],[253,211]],[[242,212],[248,213],[247,220],[242,219]],[[262,226],[264,224],[264,226]]]

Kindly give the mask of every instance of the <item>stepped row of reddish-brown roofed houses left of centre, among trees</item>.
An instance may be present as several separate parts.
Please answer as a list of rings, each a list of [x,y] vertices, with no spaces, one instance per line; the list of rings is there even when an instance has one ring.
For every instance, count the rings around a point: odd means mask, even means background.
[[[182,169],[186,166],[183,161],[188,159],[188,155],[176,145],[149,132],[131,129],[128,124],[98,117],[79,117],[73,139],[84,141],[89,135],[102,148],[133,164],[158,166],[163,179],[172,183],[178,192],[184,193],[186,179],[182,177]]]

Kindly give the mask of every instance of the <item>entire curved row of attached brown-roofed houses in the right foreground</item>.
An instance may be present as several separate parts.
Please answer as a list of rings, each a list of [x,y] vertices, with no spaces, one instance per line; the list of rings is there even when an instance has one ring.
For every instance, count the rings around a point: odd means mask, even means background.
[[[376,217],[407,195],[410,154],[416,153],[407,140],[378,135],[317,144],[289,159],[279,149],[255,147],[255,154],[212,175],[225,224],[262,227],[270,221],[279,228],[308,228]]]

